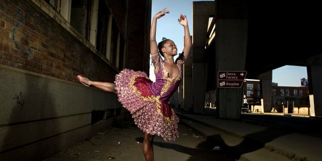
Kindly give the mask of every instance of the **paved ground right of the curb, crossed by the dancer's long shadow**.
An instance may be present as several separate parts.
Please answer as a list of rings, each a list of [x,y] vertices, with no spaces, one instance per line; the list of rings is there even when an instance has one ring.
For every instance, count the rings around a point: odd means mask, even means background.
[[[322,134],[316,130],[322,123],[319,118],[260,115],[252,118],[255,120],[237,121],[178,112],[181,122],[209,140],[221,142],[223,150],[235,151],[241,160],[321,160]]]

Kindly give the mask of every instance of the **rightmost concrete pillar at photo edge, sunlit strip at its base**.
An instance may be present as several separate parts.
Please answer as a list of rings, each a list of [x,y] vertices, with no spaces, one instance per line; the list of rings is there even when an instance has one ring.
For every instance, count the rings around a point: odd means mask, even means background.
[[[309,92],[310,92],[310,115],[322,116],[322,66],[307,66]]]

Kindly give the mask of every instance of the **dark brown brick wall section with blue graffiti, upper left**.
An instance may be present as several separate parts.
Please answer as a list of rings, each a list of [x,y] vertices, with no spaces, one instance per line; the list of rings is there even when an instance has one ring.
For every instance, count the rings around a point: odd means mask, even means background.
[[[113,81],[117,70],[28,1],[0,4],[0,63],[66,81]],[[56,15],[59,16],[59,15]],[[94,72],[95,71],[95,72]]]

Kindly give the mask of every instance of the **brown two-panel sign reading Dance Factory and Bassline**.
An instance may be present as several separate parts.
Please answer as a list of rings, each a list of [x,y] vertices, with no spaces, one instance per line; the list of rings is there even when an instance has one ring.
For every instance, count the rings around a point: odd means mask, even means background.
[[[240,88],[244,83],[246,71],[218,71],[219,88]]]

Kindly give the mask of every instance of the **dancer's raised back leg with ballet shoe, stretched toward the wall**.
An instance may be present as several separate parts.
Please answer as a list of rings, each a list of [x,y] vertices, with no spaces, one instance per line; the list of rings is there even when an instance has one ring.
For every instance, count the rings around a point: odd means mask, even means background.
[[[94,86],[107,92],[116,93],[116,85],[114,83],[90,81],[82,75],[78,75],[76,78],[86,86]]]

